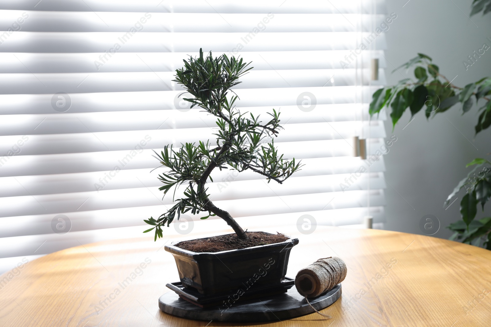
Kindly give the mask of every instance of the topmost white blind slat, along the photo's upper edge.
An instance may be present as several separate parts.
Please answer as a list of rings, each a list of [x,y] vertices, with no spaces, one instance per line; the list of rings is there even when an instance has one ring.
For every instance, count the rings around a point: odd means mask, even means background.
[[[79,12],[185,12],[185,13],[325,13],[349,14],[368,12],[374,8],[383,12],[383,0],[343,1],[343,0],[303,0],[298,1],[262,1],[230,2],[228,0],[4,0],[0,9],[13,10],[46,10],[46,11],[79,11]],[[218,18],[217,18],[218,19]]]

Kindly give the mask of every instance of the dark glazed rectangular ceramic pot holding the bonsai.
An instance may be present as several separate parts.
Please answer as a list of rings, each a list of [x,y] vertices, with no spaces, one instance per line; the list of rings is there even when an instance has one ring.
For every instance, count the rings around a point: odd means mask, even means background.
[[[281,283],[290,251],[298,243],[298,238],[290,238],[280,243],[221,252],[192,252],[171,244],[165,246],[165,251],[174,255],[179,278],[186,288],[215,295]]]

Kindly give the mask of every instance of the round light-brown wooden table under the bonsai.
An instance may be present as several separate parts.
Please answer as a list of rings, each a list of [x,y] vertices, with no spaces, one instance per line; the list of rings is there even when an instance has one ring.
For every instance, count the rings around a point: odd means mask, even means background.
[[[287,276],[331,255],[345,260],[348,276],[342,297],[322,311],[333,319],[310,314],[263,326],[491,326],[488,250],[375,229],[318,226],[303,235],[294,226],[282,226],[281,231],[300,239]],[[0,326],[253,325],[191,321],[161,312],[158,299],[168,292],[165,284],[178,280],[164,243],[150,237],[93,243],[25,264],[20,275],[1,284]]]

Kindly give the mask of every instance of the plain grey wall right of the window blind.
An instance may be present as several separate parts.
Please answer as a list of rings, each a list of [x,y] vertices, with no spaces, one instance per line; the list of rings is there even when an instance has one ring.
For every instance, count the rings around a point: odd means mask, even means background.
[[[398,15],[386,32],[388,61],[399,66],[417,52],[425,53],[433,58],[441,74],[449,79],[458,75],[453,81],[458,86],[491,76],[491,49],[467,71],[463,65],[463,60],[481,49],[483,43],[491,46],[487,39],[491,38],[491,13],[473,16],[474,25],[467,18],[472,0],[410,0],[403,7],[406,1],[386,0],[388,12]],[[404,78],[398,72],[391,74],[394,67],[387,65],[389,84]],[[407,77],[413,75],[404,70],[401,73]],[[491,152],[490,129],[474,139],[476,112],[474,107],[462,116],[462,107],[457,104],[430,121],[420,112],[406,128],[410,114],[405,113],[401,118],[393,132],[398,140],[385,156],[385,178],[392,186],[387,185],[386,189],[385,229],[423,234],[419,221],[424,215],[432,214],[441,223],[434,236],[451,235],[446,226],[460,219],[459,206],[464,193],[447,210],[442,207],[443,202],[466,176],[469,169],[465,164]],[[391,122],[387,121],[385,127],[390,136]],[[490,214],[489,207],[486,212]]]

